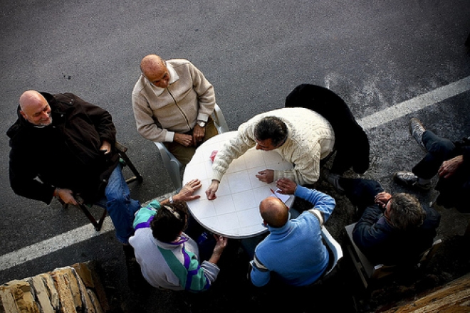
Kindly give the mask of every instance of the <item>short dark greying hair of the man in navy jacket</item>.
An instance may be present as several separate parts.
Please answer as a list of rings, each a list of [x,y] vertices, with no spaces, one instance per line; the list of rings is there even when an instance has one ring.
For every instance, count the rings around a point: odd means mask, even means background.
[[[418,199],[408,193],[397,193],[390,203],[390,221],[399,230],[411,230],[421,226],[426,212]]]

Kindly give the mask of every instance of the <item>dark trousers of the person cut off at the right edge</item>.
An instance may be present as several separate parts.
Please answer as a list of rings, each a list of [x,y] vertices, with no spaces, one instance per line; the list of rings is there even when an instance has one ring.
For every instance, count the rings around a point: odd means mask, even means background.
[[[412,172],[419,178],[432,179],[443,161],[455,157],[455,145],[449,139],[439,137],[430,130],[424,132],[423,143],[427,154],[413,167]]]

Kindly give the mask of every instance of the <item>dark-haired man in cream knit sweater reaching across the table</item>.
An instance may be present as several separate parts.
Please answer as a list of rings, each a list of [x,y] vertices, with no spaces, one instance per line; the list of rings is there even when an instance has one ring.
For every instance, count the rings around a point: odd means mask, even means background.
[[[261,113],[241,124],[236,137],[224,144],[212,165],[212,183],[206,191],[214,200],[222,176],[233,159],[256,145],[263,151],[275,150],[293,169],[259,171],[256,177],[271,184],[281,178],[297,184],[313,184],[320,176],[320,160],[333,152],[335,133],[324,117],[301,107],[286,107]]]

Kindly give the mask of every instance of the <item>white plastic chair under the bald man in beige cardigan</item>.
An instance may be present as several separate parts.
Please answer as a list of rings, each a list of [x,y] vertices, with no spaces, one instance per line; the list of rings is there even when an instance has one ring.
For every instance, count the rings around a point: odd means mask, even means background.
[[[212,113],[212,119],[214,120],[215,126],[219,134],[229,131],[229,126],[225,121],[225,117],[220,110],[219,105],[215,105],[214,112]],[[155,145],[162,156],[162,161],[164,166],[167,168],[169,178],[172,179],[172,183],[176,191],[182,189],[182,179],[181,179],[181,168],[182,164],[178,161],[174,155],[168,151],[167,147],[164,146],[162,142],[155,142]]]

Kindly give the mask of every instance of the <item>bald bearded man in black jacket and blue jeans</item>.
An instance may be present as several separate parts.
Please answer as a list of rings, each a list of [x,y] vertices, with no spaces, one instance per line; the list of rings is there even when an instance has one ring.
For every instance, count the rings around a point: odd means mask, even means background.
[[[19,196],[44,203],[56,197],[77,204],[105,195],[117,239],[127,244],[140,208],[129,196],[114,148],[116,129],[108,111],[71,93],[28,90],[17,108],[10,137],[10,184]]]

